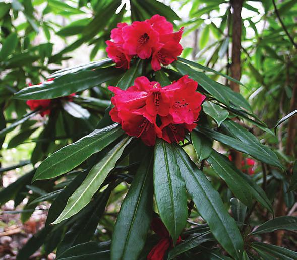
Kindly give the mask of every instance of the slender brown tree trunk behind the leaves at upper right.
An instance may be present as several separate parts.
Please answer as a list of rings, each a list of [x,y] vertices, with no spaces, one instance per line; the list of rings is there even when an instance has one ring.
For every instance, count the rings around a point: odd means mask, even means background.
[[[243,0],[230,0],[233,9],[232,14],[232,54],[231,54],[231,77],[240,80],[241,78],[241,35],[242,35],[242,8]],[[239,84],[230,81],[233,91],[239,92]],[[243,156],[238,151],[231,151],[231,156],[236,167],[241,169]]]

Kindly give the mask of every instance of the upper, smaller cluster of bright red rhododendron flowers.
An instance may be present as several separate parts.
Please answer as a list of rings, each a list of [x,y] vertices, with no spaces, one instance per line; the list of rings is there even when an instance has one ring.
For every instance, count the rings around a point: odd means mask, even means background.
[[[131,25],[118,23],[117,28],[111,30],[112,41],[106,41],[106,52],[117,68],[124,69],[129,69],[135,55],[141,59],[152,56],[152,68],[157,71],[161,64],[171,64],[182,53],[183,47],[179,42],[183,29],[174,33],[173,25],[160,15]]]

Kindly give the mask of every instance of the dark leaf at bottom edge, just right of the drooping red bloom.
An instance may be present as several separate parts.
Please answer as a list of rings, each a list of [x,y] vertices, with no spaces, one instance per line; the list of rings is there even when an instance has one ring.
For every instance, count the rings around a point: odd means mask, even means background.
[[[176,245],[173,249],[171,249],[168,253],[168,260],[173,259],[177,255],[180,255],[181,253],[184,253],[186,251],[191,250],[192,248],[197,247],[198,245],[210,240],[209,236],[206,236],[210,234],[209,232],[205,233],[198,233],[190,236],[190,238],[187,238],[180,244]]]

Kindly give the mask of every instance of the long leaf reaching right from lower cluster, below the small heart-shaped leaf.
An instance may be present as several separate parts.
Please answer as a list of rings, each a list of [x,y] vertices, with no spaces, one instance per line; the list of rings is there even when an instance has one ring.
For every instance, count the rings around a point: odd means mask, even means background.
[[[251,155],[252,157],[258,159],[261,162],[277,166],[281,169],[283,169],[283,166],[281,163],[276,160],[274,157],[267,157],[267,150],[263,148],[259,148],[258,146],[255,146],[254,144],[247,144],[241,142],[239,139],[224,135],[222,133],[219,133],[217,131],[214,131],[212,129],[202,127],[202,126],[197,126],[196,128],[199,132],[202,134],[215,139],[216,141],[219,141],[227,146],[230,146],[231,148],[234,148],[240,152],[246,153]],[[266,152],[265,152],[266,151]]]

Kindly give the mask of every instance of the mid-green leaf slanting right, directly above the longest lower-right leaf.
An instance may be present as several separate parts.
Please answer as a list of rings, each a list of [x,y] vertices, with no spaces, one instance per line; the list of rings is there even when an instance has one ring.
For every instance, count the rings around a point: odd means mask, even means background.
[[[207,162],[214,171],[226,182],[234,195],[249,208],[252,207],[253,197],[245,180],[232,168],[232,164],[227,163],[226,157],[212,150]]]

